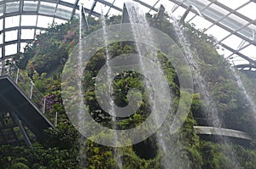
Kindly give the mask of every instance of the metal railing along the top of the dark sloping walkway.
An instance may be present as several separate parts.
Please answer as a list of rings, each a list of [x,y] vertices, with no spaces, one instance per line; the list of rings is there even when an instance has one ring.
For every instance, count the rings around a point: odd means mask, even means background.
[[[20,87],[21,91],[32,100],[34,104],[44,113],[46,99],[44,95],[38,91],[35,84],[24,70],[20,70],[12,61],[3,61],[0,65],[0,76],[9,76]]]

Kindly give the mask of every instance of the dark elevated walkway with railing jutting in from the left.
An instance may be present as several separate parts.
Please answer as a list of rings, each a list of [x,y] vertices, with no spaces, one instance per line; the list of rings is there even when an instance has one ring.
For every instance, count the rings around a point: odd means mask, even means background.
[[[15,117],[15,124],[24,125],[37,138],[42,137],[44,129],[54,128],[44,115],[44,97],[29,77],[15,65],[2,66],[0,73],[0,112],[9,112],[10,116]],[[6,128],[6,125],[3,125],[3,116],[0,119],[0,134],[3,138],[0,144],[6,144],[9,143],[9,137],[3,132]],[[23,126],[19,127],[22,132]],[[28,139],[25,131],[22,133],[25,134],[24,138]],[[29,143],[29,140],[26,140],[26,143]]]

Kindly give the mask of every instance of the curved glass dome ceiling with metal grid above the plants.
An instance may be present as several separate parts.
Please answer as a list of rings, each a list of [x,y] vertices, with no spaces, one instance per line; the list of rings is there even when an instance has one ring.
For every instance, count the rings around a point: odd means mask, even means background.
[[[133,0],[145,13],[156,14],[160,4],[180,18],[192,5],[186,22],[194,23],[222,47],[219,53],[235,65],[256,65],[255,0]],[[23,52],[26,42],[51,23],[63,23],[79,14],[83,3],[86,15],[122,14],[125,0],[0,0],[0,60]]]

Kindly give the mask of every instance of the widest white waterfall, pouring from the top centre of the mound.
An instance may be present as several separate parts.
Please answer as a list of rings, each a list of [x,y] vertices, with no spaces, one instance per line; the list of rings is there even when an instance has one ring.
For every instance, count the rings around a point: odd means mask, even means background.
[[[136,3],[125,3],[125,6],[128,11],[129,20],[131,23],[131,29],[135,39],[135,44],[137,48],[137,54],[139,57],[139,66],[141,70],[146,73],[150,71],[152,74],[152,69],[143,63],[143,56],[147,57],[154,61],[156,65],[160,67],[160,62],[157,59],[157,51],[147,45],[143,45],[139,42],[147,40],[147,42],[154,42],[154,36],[149,30],[148,21],[146,20],[145,14],[140,8],[137,7]],[[137,24],[142,24],[144,31],[137,30]],[[145,39],[146,38],[146,39]],[[160,68],[161,70],[161,68]],[[153,71],[154,73],[154,71]],[[157,74],[154,76],[158,76]],[[154,107],[154,91],[152,91],[149,82],[146,79],[143,79],[146,90],[148,92],[148,102],[150,103],[151,111],[155,109]],[[158,113],[159,114],[159,113]],[[160,114],[159,114],[160,115]],[[159,123],[158,116],[154,116],[154,123]],[[155,133],[158,149],[162,152],[161,166],[164,168],[178,168],[183,166],[183,168],[188,166],[188,159],[184,159],[181,153],[182,140],[180,144],[177,144],[175,138],[172,138],[172,135],[168,128],[170,127],[170,121],[164,122],[160,130]]]

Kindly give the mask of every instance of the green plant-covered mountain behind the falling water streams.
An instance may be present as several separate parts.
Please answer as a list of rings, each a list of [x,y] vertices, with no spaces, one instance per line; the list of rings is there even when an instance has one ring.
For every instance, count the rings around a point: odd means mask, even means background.
[[[108,25],[113,25],[120,23],[120,20],[120,16],[113,16],[107,21]],[[101,20],[90,18],[88,22],[90,32],[102,27]],[[167,19],[155,20],[153,16],[148,15],[148,22],[172,37],[177,44],[179,43],[174,28]],[[201,33],[195,29],[194,25],[184,25],[183,31],[190,42],[190,49],[196,62],[200,65],[201,76],[207,82],[209,93],[217,104],[218,116],[223,122],[223,127],[247,132],[253,140],[237,138],[227,139],[228,143],[222,143],[213,136],[196,135],[193,126],[207,125],[207,120],[203,108],[204,100],[201,99],[201,93],[195,85],[189,115],[183,126],[172,136],[172,139],[176,140],[175,144],[181,142],[183,144],[181,149],[176,149],[173,154],[177,153],[177,155],[183,155],[183,159],[189,159],[189,164],[180,164],[180,167],[186,165],[190,168],[205,169],[256,168],[256,115],[253,115],[250,104],[237,86],[236,79],[229,69],[229,63],[217,53],[218,46],[214,37]],[[84,30],[83,36],[90,32]],[[45,131],[44,139],[38,140],[38,143],[33,145],[33,149],[24,146],[1,146],[1,168],[117,168],[118,160],[113,155],[116,151],[119,151],[123,168],[163,167],[161,165],[163,152],[158,149],[155,135],[139,144],[113,149],[83,138],[68,120],[61,99],[61,71],[78,42],[79,20],[74,19],[67,24],[51,25],[47,31],[38,35],[35,42],[26,45],[23,54],[16,55],[17,65],[20,69],[26,70],[36,87],[48,100],[45,115],[50,121],[54,121],[55,112],[58,112],[58,125],[54,130]],[[108,49],[112,58],[120,54],[137,54],[134,42],[114,42],[108,46]],[[176,102],[181,92],[176,70],[160,51],[158,59]],[[111,116],[96,102],[94,92],[95,77],[105,63],[106,50],[101,48],[84,69],[84,99],[95,121],[111,128],[113,127]],[[183,67],[184,72],[186,69]],[[253,94],[252,97],[256,100],[253,88],[256,84],[255,80],[247,78],[241,72],[238,73],[247,85],[249,93]],[[114,103],[119,106],[128,104],[126,95],[131,88],[143,90],[143,75],[134,71],[119,73],[113,80]],[[176,109],[175,106],[173,109]],[[140,103],[139,110],[134,115],[119,118],[115,127],[127,129],[137,126],[148,115],[150,115],[150,105],[147,101],[147,93],[143,91],[143,101]],[[229,152],[233,153],[231,156],[234,158],[230,159]],[[174,163],[178,164],[179,161]]]

